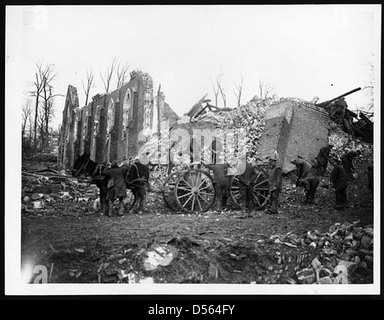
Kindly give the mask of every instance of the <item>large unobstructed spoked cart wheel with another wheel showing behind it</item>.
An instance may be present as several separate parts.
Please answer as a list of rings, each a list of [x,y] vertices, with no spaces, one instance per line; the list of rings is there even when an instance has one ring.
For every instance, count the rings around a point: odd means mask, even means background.
[[[205,212],[215,202],[213,180],[202,170],[181,172],[176,181],[175,197],[182,210]]]

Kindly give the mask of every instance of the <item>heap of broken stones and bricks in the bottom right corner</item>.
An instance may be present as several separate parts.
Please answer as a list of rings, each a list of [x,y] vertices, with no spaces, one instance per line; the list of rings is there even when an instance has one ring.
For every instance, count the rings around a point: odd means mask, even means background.
[[[291,284],[372,283],[373,228],[358,224],[359,221],[336,223],[326,233],[314,230],[299,236],[288,232],[258,240],[258,243],[269,242],[282,247],[275,250],[264,269],[275,275],[273,283],[282,280]],[[263,247],[263,252],[266,251]],[[259,280],[265,283],[268,277],[264,272]]]

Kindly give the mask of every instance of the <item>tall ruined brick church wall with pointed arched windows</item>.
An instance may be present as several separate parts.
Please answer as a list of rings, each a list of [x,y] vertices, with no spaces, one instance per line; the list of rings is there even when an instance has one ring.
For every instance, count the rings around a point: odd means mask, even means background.
[[[121,88],[98,94],[81,108],[77,89],[69,85],[60,129],[60,167],[70,168],[83,153],[97,163],[136,156],[146,141],[145,135],[153,132],[157,104],[160,119],[165,116],[170,124],[177,121],[164,94],[154,97],[151,76],[140,70],[131,72],[130,81]]]

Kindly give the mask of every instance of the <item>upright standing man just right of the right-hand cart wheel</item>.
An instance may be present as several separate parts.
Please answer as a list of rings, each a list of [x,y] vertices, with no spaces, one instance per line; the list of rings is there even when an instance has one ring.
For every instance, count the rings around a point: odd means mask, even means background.
[[[277,155],[276,153],[268,158],[269,162],[269,194],[271,197],[270,207],[266,210],[266,213],[270,214],[278,214],[278,206],[279,206],[279,195],[281,192],[281,186],[283,182],[282,170],[281,167],[277,165]]]

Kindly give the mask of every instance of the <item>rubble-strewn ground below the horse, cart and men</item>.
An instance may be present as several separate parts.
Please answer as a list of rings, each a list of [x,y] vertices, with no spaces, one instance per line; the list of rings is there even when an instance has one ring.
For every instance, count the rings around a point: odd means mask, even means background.
[[[50,283],[373,283],[373,204],[367,160],[357,164],[349,208],[333,189],[303,205],[284,178],[281,213],[168,209],[150,193],[146,214],[95,212],[98,190],[58,172],[54,158],[23,161],[21,257],[44,265]],[[320,185],[328,185],[325,177]],[[130,191],[129,191],[130,192]],[[31,282],[34,279],[30,280]]]

